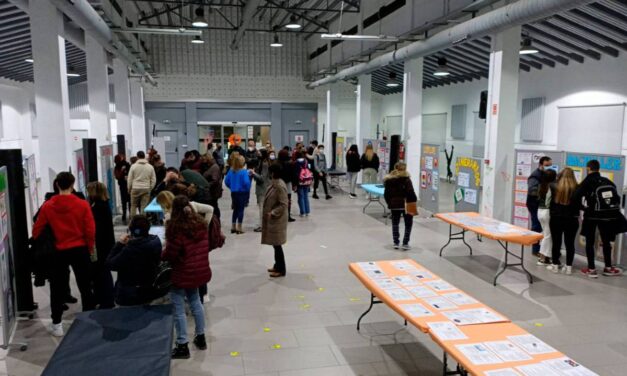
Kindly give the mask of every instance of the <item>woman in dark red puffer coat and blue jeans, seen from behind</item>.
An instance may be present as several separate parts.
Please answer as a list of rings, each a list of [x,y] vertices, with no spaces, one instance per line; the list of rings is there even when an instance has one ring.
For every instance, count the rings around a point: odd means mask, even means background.
[[[173,359],[189,359],[187,347],[187,318],[185,298],[196,323],[194,345],[207,349],[205,340],[205,313],[200,303],[198,287],[211,280],[209,267],[209,232],[205,219],[198,215],[185,196],[172,202],[172,214],[165,225],[166,247],[161,258],[172,265],[170,299],[174,305],[176,347]]]

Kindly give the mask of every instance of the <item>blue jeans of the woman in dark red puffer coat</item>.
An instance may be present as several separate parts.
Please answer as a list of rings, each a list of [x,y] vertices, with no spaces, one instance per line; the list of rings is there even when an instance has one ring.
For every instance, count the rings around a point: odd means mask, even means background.
[[[185,298],[196,323],[196,335],[205,334],[205,312],[200,304],[198,289],[179,289],[172,287],[170,300],[174,305],[174,328],[176,329],[176,343],[185,344],[187,340],[187,317],[185,317]]]

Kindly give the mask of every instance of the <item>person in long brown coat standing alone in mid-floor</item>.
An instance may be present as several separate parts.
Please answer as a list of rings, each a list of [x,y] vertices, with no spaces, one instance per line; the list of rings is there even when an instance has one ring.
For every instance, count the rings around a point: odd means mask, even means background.
[[[285,277],[285,254],[283,244],[287,242],[288,190],[282,179],[281,165],[269,167],[272,178],[263,200],[263,220],[261,221],[261,244],[274,248],[274,266],[268,269],[270,277]]]

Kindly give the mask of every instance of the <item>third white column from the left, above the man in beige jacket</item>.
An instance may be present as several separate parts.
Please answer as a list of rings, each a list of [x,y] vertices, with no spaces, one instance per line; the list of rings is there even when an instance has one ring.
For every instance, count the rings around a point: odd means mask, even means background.
[[[126,148],[131,149],[135,154],[137,150],[132,150],[131,131],[131,94],[128,80],[128,68],[120,59],[113,59],[113,88],[115,93],[115,119],[118,134],[123,134],[126,141]]]

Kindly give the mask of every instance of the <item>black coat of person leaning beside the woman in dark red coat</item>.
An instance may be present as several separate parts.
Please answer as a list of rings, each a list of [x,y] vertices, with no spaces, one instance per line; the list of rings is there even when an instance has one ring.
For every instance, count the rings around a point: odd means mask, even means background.
[[[152,284],[161,262],[161,240],[156,235],[116,243],[106,266],[117,272],[115,302],[119,305],[148,304],[157,296]]]

